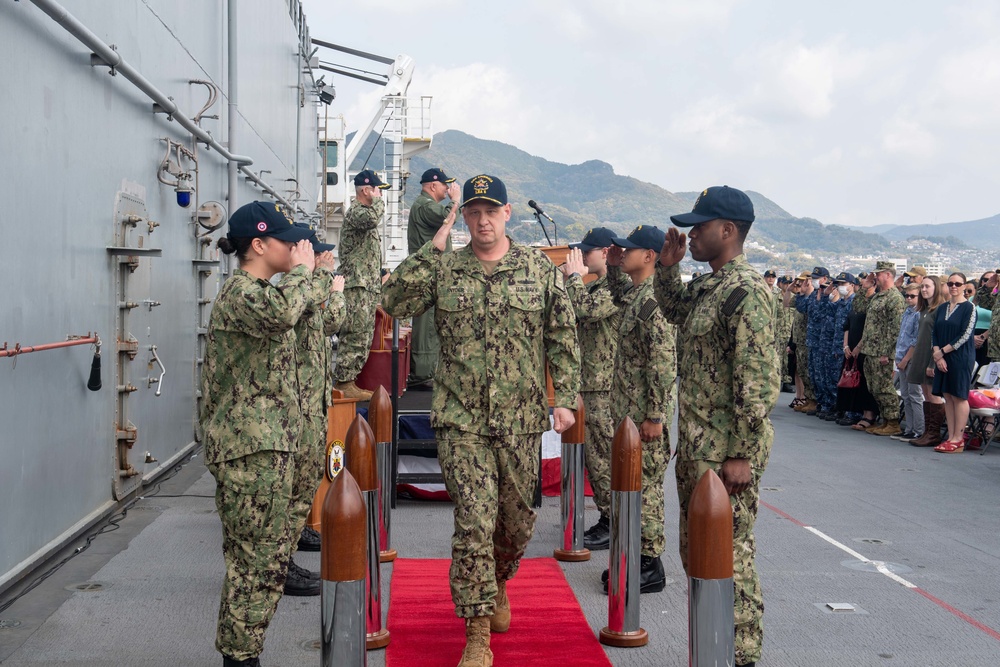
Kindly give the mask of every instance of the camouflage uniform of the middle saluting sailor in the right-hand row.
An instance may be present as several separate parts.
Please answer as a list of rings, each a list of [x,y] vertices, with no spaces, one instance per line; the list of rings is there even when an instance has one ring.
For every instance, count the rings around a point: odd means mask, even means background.
[[[608,267],[610,280],[620,275],[619,267]],[[660,419],[663,425],[659,438],[642,443],[642,555],[656,557],[667,546],[663,481],[670,463],[670,422],[677,393],[674,327],[657,308],[653,276],[615,296],[622,315],[611,385],[613,428],[625,417],[637,427],[647,419]]]

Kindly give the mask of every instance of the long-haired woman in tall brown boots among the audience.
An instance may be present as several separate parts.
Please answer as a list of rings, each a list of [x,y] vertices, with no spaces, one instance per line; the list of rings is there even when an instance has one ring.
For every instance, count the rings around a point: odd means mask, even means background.
[[[917,325],[917,343],[913,346],[913,356],[906,367],[906,381],[920,383],[924,394],[924,434],[910,440],[914,447],[937,447],[941,444],[941,425],[944,424],[944,399],[931,393],[934,381],[934,362],[931,359],[931,332],[938,306],[947,300],[944,278],[927,276],[920,281],[920,296],[917,310],[920,324]]]

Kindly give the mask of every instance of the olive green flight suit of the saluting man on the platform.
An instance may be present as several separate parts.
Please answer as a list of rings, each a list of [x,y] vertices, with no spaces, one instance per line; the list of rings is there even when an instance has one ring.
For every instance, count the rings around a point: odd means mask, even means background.
[[[434,238],[441,229],[444,219],[455,205],[434,201],[426,192],[417,195],[410,207],[410,217],[406,223],[407,252],[413,254]],[[451,252],[451,237],[445,242],[445,251]],[[410,376],[414,382],[424,382],[434,377],[438,349],[437,329],[434,328],[434,309],[429,308],[423,315],[413,318],[413,336],[410,341]]]

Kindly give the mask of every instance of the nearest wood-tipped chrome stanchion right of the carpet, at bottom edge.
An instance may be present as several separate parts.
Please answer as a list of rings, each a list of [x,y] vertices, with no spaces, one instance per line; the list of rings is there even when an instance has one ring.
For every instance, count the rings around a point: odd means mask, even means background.
[[[709,470],[688,505],[688,664],[732,665],[733,508],[722,480]]]

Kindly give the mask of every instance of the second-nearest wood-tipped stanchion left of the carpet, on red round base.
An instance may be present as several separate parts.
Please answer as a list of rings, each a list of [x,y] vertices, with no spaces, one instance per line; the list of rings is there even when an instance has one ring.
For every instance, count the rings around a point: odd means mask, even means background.
[[[365,499],[368,519],[368,604],[365,644],[369,650],[389,643],[389,631],[382,627],[382,576],[378,557],[378,471],[375,436],[368,422],[358,415],[347,429],[347,469],[358,480]]]

